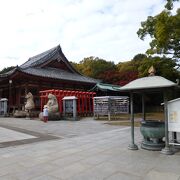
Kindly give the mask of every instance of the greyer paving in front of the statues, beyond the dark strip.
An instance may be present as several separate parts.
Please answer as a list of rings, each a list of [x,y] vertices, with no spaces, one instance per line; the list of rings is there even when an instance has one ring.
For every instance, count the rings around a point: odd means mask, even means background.
[[[0,126],[16,127],[63,138],[84,136],[119,128],[104,124],[103,121],[92,121],[92,118],[84,118],[81,121],[49,121],[47,124],[39,119],[0,118]]]

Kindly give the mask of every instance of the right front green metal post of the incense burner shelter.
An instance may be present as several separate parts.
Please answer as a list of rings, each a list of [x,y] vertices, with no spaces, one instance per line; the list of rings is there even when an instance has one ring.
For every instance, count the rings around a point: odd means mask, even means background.
[[[168,101],[166,90],[163,92],[164,95],[164,121],[165,121],[165,148],[161,150],[162,154],[172,155],[174,152],[169,145],[169,133],[168,133]]]

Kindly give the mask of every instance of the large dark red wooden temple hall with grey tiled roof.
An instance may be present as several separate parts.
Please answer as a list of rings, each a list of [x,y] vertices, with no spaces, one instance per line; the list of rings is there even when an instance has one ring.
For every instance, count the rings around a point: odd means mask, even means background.
[[[0,75],[0,98],[7,98],[12,108],[21,108],[27,92],[34,95],[40,108],[39,91],[47,89],[86,91],[97,80],[81,75],[69,63],[60,45],[28,59],[21,66]]]

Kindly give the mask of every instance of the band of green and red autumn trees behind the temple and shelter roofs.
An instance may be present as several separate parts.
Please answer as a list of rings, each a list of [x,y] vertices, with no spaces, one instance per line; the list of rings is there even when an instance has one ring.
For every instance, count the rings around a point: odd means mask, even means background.
[[[130,61],[114,64],[101,58],[88,57],[80,63],[72,65],[83,75],[102,80],[104,83],[125,85],[138,77],[148,76],[148,70],[153,65],[156,75],[163,76],[175,82],[180,78],[180,72],[175,68],[176,61],[166,57],[147,57],[137,54]]]

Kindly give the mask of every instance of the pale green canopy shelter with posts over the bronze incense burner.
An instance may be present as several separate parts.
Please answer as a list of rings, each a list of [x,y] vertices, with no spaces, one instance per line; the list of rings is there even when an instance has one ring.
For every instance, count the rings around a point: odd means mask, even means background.
[[[151,72],[149,72],[151,73]],[[134,142],[134,107],[133,107],[133,93],[142,94],[142,113],[145,119],[145,103],[144,93],[152,91],[162,91],[164,98],[164,118],[165,118],[165,148],[161,150],[161,153],[166,155],[173,154],[173,151],[169,145],[169,134],[168,134],[168,107],[167,107],[167,90],[169,88],[178,87],[178,84],[169,81],[168,79],[161,76],[154,76],[150,74],[148,77],[139,78],[131,81],[127,85],[121,87],[120,91],[130,92],[130,109],[131,109],[131,144],[128,149],[137,150],[138,146]]]

